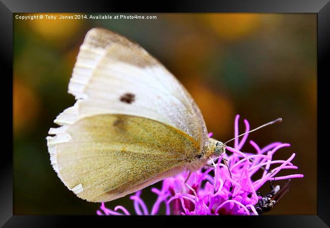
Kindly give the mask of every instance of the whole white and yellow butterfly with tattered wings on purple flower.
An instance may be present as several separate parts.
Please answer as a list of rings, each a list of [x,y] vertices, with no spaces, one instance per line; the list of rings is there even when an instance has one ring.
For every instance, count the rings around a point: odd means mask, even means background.
[[[69,93],[77,101],[54,120],[47,145],[58,177],[87,201],[115,200],[225,151],[174,75],[112,31],[87,32]]]

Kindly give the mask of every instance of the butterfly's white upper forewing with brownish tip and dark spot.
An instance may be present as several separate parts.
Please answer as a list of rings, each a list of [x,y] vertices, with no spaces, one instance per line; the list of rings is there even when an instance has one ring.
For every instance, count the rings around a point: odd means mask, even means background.
[[[79,118],[97,113],[140,116],[176,127],[203,146],[208,143],[201,111],[180,82],[143,48],[108,30],[87,33],[69,92],[84,98],[77,105],[84,107]],[[133,102],[121,100],[127,93],[134,95]]]

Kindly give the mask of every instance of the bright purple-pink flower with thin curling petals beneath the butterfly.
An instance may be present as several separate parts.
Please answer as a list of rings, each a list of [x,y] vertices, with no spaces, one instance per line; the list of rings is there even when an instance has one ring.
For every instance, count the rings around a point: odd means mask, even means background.
[[[240,116],[235,119],[235,137],[239,135],[238,123]],[[244,120],[245,132],[250,130],[247,120]],[[209,134],[209,137],[212,133]],[[135,213],[138,215],[155,215],[160,204],[166,206],[167,215],[258,215],[255,206],[261,199],[258,189],[270,180],[283,180],[303,177],[302,174],[278,176],[283,169],[298,169],[291,161],[295,154],[287,160],[273,161],[273,155],[282,147],[290,146],[288,143],[273,142],[260,148],[254,141],[250,144],[255,153],[243,153],[240,150],[246,143],[248,134],[239,141],[235,139],[234,148],[226,146],[232,155],[223,153],[217,162],[211,159],[214,168],[202,168],[191,173],[182,172],[162,181],[162,188],[152,188],[151,191],[158,197],[151,211],[148,210],[140,198],[141,191],[135,193],[130,199],[134,202]],[[228,167],[221,163],[227,160]],[[278,165],[271,168],[271,165]],[[273,167],[273,166],[272,166]],[[230,172],[229,172],[229,170]],[[256,173],[262,170],[261,177]],[[130,215],[122,206],[110,210],[102,203],[98,215]]]

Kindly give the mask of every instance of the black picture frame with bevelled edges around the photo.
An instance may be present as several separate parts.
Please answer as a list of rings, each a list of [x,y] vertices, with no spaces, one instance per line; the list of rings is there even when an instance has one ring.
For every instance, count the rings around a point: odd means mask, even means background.
[[[12,119],[12,80],[9,74],[13,71],[13,13],[24,12],[244,12],[244,13],[315,13],[317,14],[317,215],[287,215],[287,216],[200,216],[189,219],[185,216],[154,216],[154,222],[148,222],[150,217],[130,216],[129,218],[118,216],[18,216],[13,215],[13,159],[10,148],[13,146],[3,140],[2,157],[0,159],[1,185],[0,185],[0,225],[4,227],[58,227],[69,226],[69,223],[78,225],[91,224],[92,227],[100,222],[108,225],[118,224],[117,222],[127,222],[133,220],[136,224],[143,226],[165,226],[173,225],[177,221],[188,222],[194,225],[220,225],[226,221],[225,225],[230,226],[252,226],[252,227],[328,227],[330,224],[329,212],[329,183],[330,177],[327,175],[327,159],[325,150],[324,135],[319,132],[325,127],[325,111],[323,110],[326,102],[326,76],[330,75],[328,67],[329,46],[330,46],[330,3],[328,0],[308,1],[308,0],[218,0],[218,1],[180,1],[173,5],[170,2],[119,2],[119,1],[49,1],[49,0],[2,0],[0,3],[0,36],[1,36],[1,63],[2,69],[8,72],[2,74],[3,100],[8,99],[8,109],[3,107],[2,113],[4,120]],[[154,7],[151,9],[151,7]],[[8,90],[6,90],[8,89]],[[10,109],[11,108],[11,109]],[[9,121],[8,128],[10,127]],[[11,128],[12,129],[12,128]],[[7,130],[7,129],[6,129]],[[3,131],[8,135],[10,130]],[[311,132],[311,134],[314,134]],[[13,134],[12,134],[13,135]],[[9,141],[9,140],[8,140]],[[303,143],[303,142],[302,142]],[[12,144],[13,145],[13,144]],[[308,145],[306,145],[308,146]],[[13,148],[12,148],[13,150]],[[304,189],[301,189],[304,191]],[[304,199],[302,199],[304,200]],[[139,220],[138,220],[139,219]],[[159,222],[158,220],[162,221]],[[207,220],[206,220],[207,219]],[[211,220],[210,220],[211,219]],[[215,220],[217,219],[217,220]],[[111,223],[109,223],[111,221]]]

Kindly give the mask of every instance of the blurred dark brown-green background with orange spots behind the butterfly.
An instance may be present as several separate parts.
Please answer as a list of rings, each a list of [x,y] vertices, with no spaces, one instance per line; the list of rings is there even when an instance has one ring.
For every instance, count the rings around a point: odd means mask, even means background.
[[[249,138],[260,146],[290,143],[275,159],[296,153],[299,170],[282,174],[305,177],[293,179],[290,192],[267,214],[316,214],[316,14],[139,15],[157,19],[14,17],[14,214],[93,215],[100,206],[79,199],[59,180],[45,139],[56,116],[75,102],[67,92],[69,79],[84,35],[96,26],[136,41],[176,75],[214,138],[233,137],[236,114],[252,128],[282,117],[281,124]],[[142,192],[149,208],[156,199],[150,188]],[[262,193],[269,191],[266,186]],[[129,196],[106,203],[117,205],[134,211]]]

